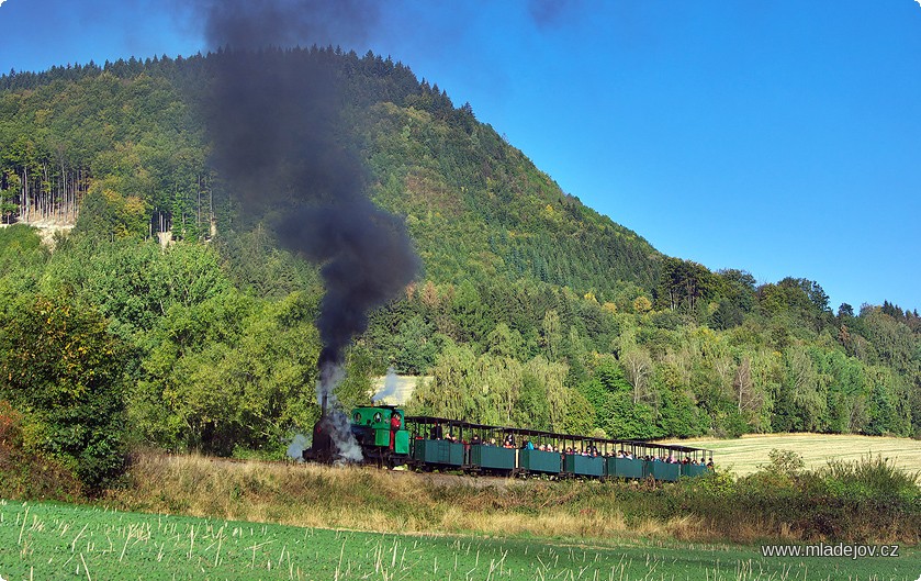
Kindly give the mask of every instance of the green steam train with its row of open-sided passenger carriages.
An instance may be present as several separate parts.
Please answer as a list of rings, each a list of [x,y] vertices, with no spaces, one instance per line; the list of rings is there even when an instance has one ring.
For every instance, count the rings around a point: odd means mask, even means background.
[[[676,481],[712,469],[712,451],[704,448],[407,416],[394,405],[356,407],[349,416],[324,413],[303,457],[326,463],[551,478]]]

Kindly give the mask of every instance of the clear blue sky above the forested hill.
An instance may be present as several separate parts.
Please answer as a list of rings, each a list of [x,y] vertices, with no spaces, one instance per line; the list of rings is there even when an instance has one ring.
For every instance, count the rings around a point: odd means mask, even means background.
[[[341,1],[341,0],[339,0]],[[355,1],[355,0],[353,0]],[[5,0],[0,70],[209,47],[154,0]],[[380,2],[359,40],[665,254],[921,309],[917,0]]]

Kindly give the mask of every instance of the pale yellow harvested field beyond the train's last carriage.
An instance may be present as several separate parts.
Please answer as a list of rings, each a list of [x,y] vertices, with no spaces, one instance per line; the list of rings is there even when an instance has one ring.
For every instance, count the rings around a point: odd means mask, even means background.
[[[794,450],[802,456],[807,468],[821,468],[828,460],[857,460],[868,454],[890,458],[909,471],[921,470],[921,440],[876,436],[836,434],[760,434],[735,439],[696,438],[663,440],[714,450],[714,460],[721,468],[739,476],[750,474],[767,463],[774,448]]]

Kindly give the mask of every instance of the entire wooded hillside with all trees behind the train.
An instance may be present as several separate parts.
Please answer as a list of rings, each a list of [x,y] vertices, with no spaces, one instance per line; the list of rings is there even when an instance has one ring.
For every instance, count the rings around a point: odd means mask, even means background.
[[[284,206],[244,211],[209,164],[221,57],[0,77],[3,221],[76,222],[54,254],[23,226],[0,231],[0,400],[41,409],[26,395],[36,388],[105,378],[131,437],[227,454],[277,447],[316,416],[316,268],[274,243]],[[347,403],[394,367],[433,377],[415,411],[488,423],[618,437],[921,433],[917,312],[833,311],[816,281],[757,286],[665,257],[402,64],[318,48],[259,58],[334,80],[339,145],[424,261],[352,346]],[[60,335],[35,333],[48,313]],[[80,373],[100,365],[82,355],[65,368],[22,356],[81,345],[75,329],[119,354],[123,373]]]

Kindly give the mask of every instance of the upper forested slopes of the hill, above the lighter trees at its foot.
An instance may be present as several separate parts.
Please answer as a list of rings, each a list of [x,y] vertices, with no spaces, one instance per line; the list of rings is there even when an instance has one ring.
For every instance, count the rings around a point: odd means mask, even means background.
[[[294,51],[265,57],[335,69],[348,132],[342,139],[368,159],[375,200],[407,216],[431,279],[524,276],[611,298],[622,282],[652,290],[659,253],[564,194],[521,152],[476,122],[469,104],[454,108],[437,85],[372,54]],[[10,148],[3,168],[33,192],[50,182],[48,208],[69,200],[67,183],[88,188],[93,177],[143,177],[144,183],[125,191],[141,194],[157,217],[167,225],[178,221],[183,237],[194,238],[206,231],[202,216],[211,210],[203,210],[201,192],[207,190],[207,202],[215,193],[203,183],[213,178],[204,165],[206,113],[196,108],[211,69],[209,58],[196,56],[4,76],[0,139]],[[30,204],[31,215],[42,206]]]

